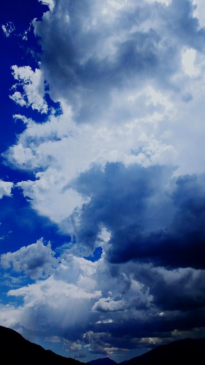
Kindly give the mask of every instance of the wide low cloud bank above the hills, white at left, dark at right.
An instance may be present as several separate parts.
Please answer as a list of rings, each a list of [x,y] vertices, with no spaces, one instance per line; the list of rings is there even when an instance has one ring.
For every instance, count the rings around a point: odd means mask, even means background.
[[[101,354],[150,347],[140,339],[171,341],[175,329],[204,325],[204,270],[114,265],[105,254],[91,262],[64,252],[60,261],[45,280],[8,292],[23,297],[23,304],[1,306],[1,324],[46,341],[60,339],[71,352],[86,344]]]

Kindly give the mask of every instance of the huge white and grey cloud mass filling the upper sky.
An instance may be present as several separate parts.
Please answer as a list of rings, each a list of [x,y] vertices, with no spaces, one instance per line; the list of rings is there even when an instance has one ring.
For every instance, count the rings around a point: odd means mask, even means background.
[[[36,173],[35,181],[18,186],[32,208],[66,233],[72,233],[66,218],[87,199],[66,186],[93,163],[178,164],[175,174],[186,174],[202,172],[205,162],[204,30],[192,3],[76,4],[58,1],[33,23],[43,47],[39,69],[13,66],[24,88],[15,100],[42,112],[46,79],[63,114],[30,121],[3,154],[7,164]],[[192,80],[182,62],[189,48],[199,69]]]

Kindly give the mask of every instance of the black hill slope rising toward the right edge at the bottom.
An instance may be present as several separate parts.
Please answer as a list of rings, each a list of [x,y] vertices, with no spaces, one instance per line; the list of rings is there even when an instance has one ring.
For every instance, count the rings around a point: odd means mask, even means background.
[[[198,365],[204,362],[205,338],[186,338],[128,360],[126,365]]]

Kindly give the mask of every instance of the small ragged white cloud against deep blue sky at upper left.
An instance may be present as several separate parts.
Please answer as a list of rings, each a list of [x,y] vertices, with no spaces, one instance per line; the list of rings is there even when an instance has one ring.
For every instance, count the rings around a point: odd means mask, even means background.
[[[40,113],[47,113],[48,105],[44,99],[45,84],[41,71],[39,69],[32,71],[30,66],[18,67],[16,65],[11,66],[11,69],[13,77],[19,81],[19,84],[13,85],[13,88],[22,85],[24,93],[15,91],[9,97],[21,106],[31,105],[32,109],[36,109]]]

